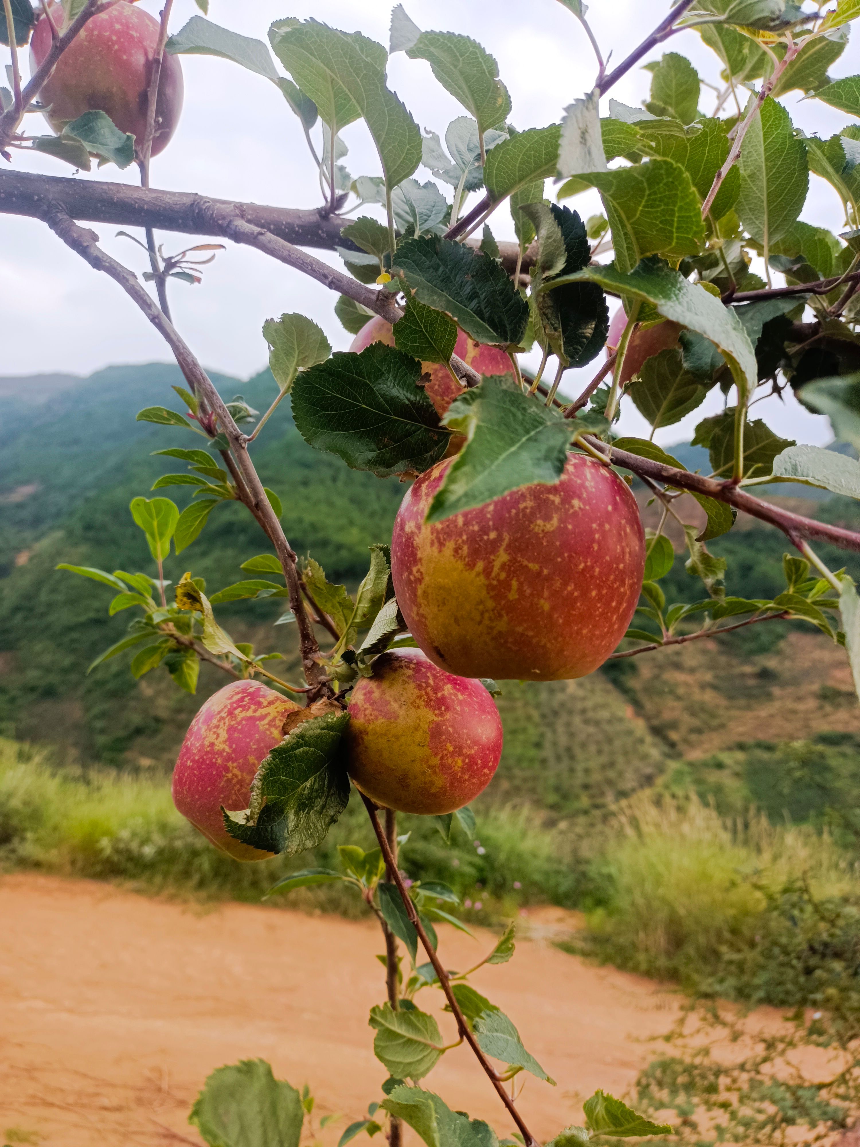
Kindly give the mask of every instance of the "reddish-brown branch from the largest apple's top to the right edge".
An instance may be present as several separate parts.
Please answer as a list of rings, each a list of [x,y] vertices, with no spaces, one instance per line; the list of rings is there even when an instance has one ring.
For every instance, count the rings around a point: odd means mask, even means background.
[[[718,501],[727,502],[735,509],[741,509],[751,517],[757,517],[761,522],[775,525],[782,530],[791,540],[797,538],[808,538],[816,541],[829,541],[842,549],[852,549],[860,553],[860,533],[853,530],[844,530],[841,525],[829,525],[827,522],[815,522],[811,517],[802,517],[800,514],[792,514],[791,510],[782,509],[772,502],[753,498],[734,482],[719,482],[714,478],[703,478],[701,474],[690,474],[689,470],[679,470],[673,466],[664,466],[663,462],[654,462],[649,458],[640,458],[639,454],[631,454],[626,450],[616,450],[611,445],[601,442],[592,435],[585,439],[589,446],[600,451],[613,466],[620,466],[625,470],[631,470],[643,478],[652,478],[655,482],[663,482],[665,485],[677,490],[690,490],[695,493],[706,494]]]

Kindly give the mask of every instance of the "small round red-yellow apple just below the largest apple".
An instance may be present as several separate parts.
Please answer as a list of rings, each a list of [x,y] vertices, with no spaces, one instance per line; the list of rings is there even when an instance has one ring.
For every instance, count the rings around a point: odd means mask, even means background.
[[[438,817],[483,793],[499,765],[502,726],[480,684],[438,669],[417,649],[373,663],[349,705],[347,770],[385,809]]]

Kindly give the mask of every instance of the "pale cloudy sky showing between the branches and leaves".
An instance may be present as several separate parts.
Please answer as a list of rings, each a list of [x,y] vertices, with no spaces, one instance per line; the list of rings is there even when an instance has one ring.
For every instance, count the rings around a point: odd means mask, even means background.
[[[157,15],[158,0],[141,0],[141,7]],[[583,96],[594,83],[592,49],[578,21],[558,0],[405,0],[419,26],[456,31],[474,37],[492,52],[513,100],[510,122],[517,128],[557,122],[563,108]],[[210,18],[245,36],[266,40],[273,19],[283,16],[314,16],[345,31],[361,31],[388,45],[391,0],[210,0]],[[669,6],[665,6],[667,10]],[[623,60],[659,22],[663,5],[641,0],[600,0],[592,5],[589,22],[604,55]],[[198,15],[194,0],[175,0],[171,29],[177,31]],[[698,69],[704,80],[719,83],[717,57],[694,31],[673,37],[642,63],[659,60],[665,50],[680,52]],[[7,49],[0,47],[0,63]],[[153,163],[151,184],[179,192],[200,192],[221,198],[253,201],[280,206],[312,208],[320,202],[316,169],[307,151],[298,119],[277,88],[228,61],[211,56],[182,56],[186,97],[182,118],[167,149]],[[24,62],[26,75],[26,60]],[[849,44],[831,69],[834,78],[860,72],[860,34]],[[648,97],[650,77],[641,67],[631,70],[611,95],[628,104]],[[393,55],[389,84],[404,100],[422,127],[444,136],[447,124],[463,115],[462,107],[432,77],[429,64]],[[713,93],[703,87],[701,109],[710,111]],[[785,101],[792,119],[806,133],[829,135],[849,117],[815,100],[792,93]],[[602,102],[602,114],[607,114]],[[31,126],[38,122],[39,126]],[[47,131],[37,117],[28,128]],[[319,132],[319,126],[316,132]],[[350,148],[342,162],[355,175],[380,173],[378,158],[363,125],[350,125],[343,138]],[[13,153],[19,170],[70,175],[71,169],[39,155]],[[0,159],[0,163],[3,161]],[[125,172],[107,166],[75,178],[134,184],[136,169]],[[422,182],[431,178],[420,167]],[[552,184],[547,184],[552,193]],[[596,193],[589,192],[569,205],[584,218],[601,210]],[[843,229],[842,208],[827,184],[811,177],[811,189],[802,218],[808,223]],[[513,239],[513,223],[505,206],[492,218],[497,239]],[[138,272],[146,255],[115,228],[96,226],[102,244]],[[136,234],[136,233],[135,233]],[[141,233],[142,237],[142,233]],[[193,240],[158,236],[165,252],[181,250]],[[334,252],[315,251],[335,266]],[[266,256],[229,245],[205,268],[200,287],[172,284],[174,321],[204,366],[247,379],[266,362],[261,336],[264,321],[283,312],[300,311],[326,331],[334,350],[346,350],[350,335],[334,314],[336,296],[311,279]],[[613,301],[610,301],[613,306]],[[26,375],[69,372],[86,375],[112,364],[166,361],[169,352],[158,334],[123,291],[107,276],[92,271],[37,220],[0,214],[0,374]],[[601,359],[602,360],[602,359]],[[576,395],[592,377],[601,360],[583,370],[565,374],[564,389]],[[719,409],[721,395],[707,401],[682,422],[658,430],[663,445],[689,440],[695,423]],[[625,403],[620,429],[648,435],[644,420]],[[826,444],[831,439],[826,419],[805,412],[789,395],[783,404],[768,398],[756,415],[790,438]]]

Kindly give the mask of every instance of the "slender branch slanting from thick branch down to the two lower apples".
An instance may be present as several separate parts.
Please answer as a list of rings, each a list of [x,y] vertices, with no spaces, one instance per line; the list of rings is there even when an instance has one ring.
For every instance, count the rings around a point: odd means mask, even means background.
[[[122,263],[117,263],[116,259],[105,255],[97,244],[99,236],[92,231],[79,227],[61,206],[53,205],[48,208],[44,218],[54,234],[58,235],[68,247],[77,251],[95,271],[103,271],[110,275],[133,302],[138,304],[156,330],[158,330],[170,345],[179,364],[179,368],[193,392],[205,403],[209,411],[214,414],[220,423],[224,434],[229,440],[239,470],[242,474],[249,496],[249,508],[272,540],[277,560],[283,569],[289,591],[290,609],[296,617],[299,632],[302,666],[305,672],[305,679],[308,686],[311,686],[308,697],[310,700],[314,700],[314,695],[326,687],[326,672],[318,661],[319,645],[302,599],[302,586],[298,569],[296,568],[296,554],[287,541],[281,529],[281,523],[275,516],[263,489],[263,483],[248,453],[245,436],[236,426],[221,396],[193,354],[190,348],[175,330],[164,312],[153,302],[132,272],[127,267],[124,267]]]

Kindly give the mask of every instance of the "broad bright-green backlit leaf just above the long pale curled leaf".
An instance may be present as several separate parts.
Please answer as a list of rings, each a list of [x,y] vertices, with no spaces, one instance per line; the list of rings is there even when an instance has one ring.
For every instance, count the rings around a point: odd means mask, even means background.
[[[649,255],[698,255],[705,239],[702,204],[690,177],[673,159],[578,178],[601,194],[619,271],[633,271]]]

